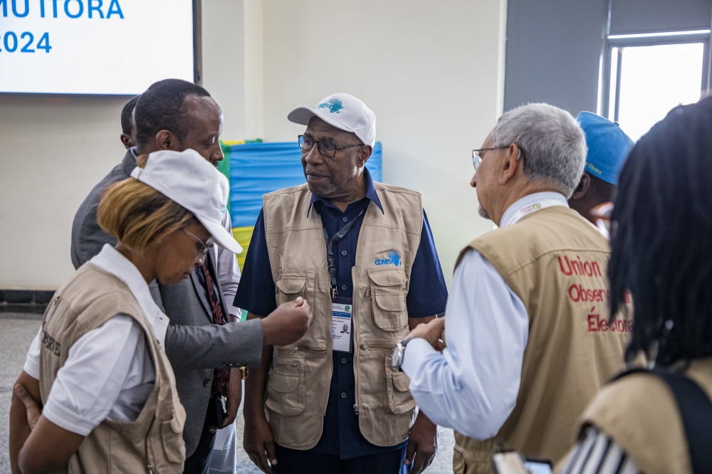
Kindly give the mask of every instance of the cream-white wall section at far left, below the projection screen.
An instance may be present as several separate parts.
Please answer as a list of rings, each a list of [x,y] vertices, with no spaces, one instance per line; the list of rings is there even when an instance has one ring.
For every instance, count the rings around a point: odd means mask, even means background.
[[[125,154],[127,98],[0,97],[0,288],[56,290],[72,219]]]

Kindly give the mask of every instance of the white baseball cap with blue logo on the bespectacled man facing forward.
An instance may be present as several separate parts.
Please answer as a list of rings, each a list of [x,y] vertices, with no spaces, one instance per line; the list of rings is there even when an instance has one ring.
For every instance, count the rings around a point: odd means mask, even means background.
[[[300,125],[309,125],[312,117],[319,117],[329,125],[354,133],[364,144],[376,143],[376,115],[366,104],[353,95],[338,93],[321,100],[318,105],[297,107],[287,115],[287,120]]]

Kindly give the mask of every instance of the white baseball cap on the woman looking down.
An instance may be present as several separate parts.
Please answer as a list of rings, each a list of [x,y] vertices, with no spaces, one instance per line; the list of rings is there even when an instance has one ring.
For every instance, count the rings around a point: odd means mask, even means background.
[[[134,168],[131,177],[191,211],[216,244],[232,253],[242,252],[222,224],[230,190],[227,178],[198,152],[153,152],[148,155],[146,166]]]

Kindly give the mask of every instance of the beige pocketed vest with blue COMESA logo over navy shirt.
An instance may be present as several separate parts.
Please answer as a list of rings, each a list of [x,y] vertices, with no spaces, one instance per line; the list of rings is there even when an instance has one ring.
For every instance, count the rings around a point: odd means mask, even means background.
[[[410,380],[392,369],[391,354],[409,332],[406,295],[423,208],[415,191],[380,183],[375,188],[384,212],[369,203],[352,268],[354,408],[370,443],[394,446],[408,437],[417,415]],[[300,450],[321,438],[333,371],[326,243],[311,196],[303,184],[266,194],[263,203],[277,304],[301,296],[314,312],[304,337],[274,347],[265,401],[275,441]]]

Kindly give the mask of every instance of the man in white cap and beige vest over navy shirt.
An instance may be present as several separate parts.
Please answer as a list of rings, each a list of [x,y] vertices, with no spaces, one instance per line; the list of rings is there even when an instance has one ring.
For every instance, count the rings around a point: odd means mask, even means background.
[[[253,318],[307,297],[314,322],[295,344],[263,349],[246,381],[244,447],[266,473],[419,473],[436,426],[390,357],[447,299],[421,196],[372,180],[376,121],[361,100],[330,95],[288,120],[306,126],[307,182],[264,197],[234,304]]]

